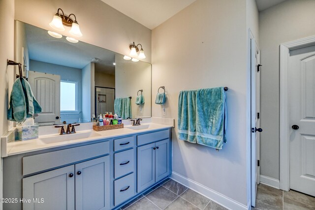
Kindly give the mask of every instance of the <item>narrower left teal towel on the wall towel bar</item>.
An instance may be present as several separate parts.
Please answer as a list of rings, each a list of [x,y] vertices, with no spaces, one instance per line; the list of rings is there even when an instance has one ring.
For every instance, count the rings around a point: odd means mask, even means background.
[[[178,98],[178,138],[196,143],[196,91],[181,91]]]

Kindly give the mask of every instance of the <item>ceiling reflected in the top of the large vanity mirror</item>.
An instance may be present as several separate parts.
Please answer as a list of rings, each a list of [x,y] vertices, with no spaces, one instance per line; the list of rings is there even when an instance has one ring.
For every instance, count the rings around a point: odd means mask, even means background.
[[[101,61],[95,63],[95,70],[115,75],[116,53],[112,51],[82,41],[71,43],[65,36],[54,38],[46,30],[29,24],[25,24],[25,31],[32,60],[83,69],[93,58],[99,58]]]

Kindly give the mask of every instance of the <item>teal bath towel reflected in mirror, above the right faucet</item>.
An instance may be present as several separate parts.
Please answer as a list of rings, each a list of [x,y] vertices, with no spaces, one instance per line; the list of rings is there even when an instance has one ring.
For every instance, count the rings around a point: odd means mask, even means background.
[[[122,117],[122,119],[131,119],[131,102],[129,97],[115,99],[114,110],[118,116]]]

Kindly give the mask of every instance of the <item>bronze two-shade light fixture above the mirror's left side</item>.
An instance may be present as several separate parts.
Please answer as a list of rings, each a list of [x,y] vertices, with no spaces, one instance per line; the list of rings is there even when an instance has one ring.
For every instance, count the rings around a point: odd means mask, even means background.
[[[62,11],[62,14],[59,14],[59,10]],[[70,16],[74,16],[74,20],[70,18]],[[63,10],[59,8],[57,13],[54,15],[53,20],[49,24],[53,29],[58,31],[64,31],[63,26],[71,27],[69,33],[74,36],[82,36],[80,31],[79,24],[77,22],[77,18],[74,14],[70,14],[69,16],[65,16]]]

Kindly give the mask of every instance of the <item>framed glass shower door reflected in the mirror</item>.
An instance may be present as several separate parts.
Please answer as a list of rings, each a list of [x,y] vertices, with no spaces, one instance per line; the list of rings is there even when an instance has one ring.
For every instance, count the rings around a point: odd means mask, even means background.
[[[106,112],[114,114],[115,88],[95,86],[95,115]]]

